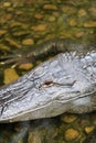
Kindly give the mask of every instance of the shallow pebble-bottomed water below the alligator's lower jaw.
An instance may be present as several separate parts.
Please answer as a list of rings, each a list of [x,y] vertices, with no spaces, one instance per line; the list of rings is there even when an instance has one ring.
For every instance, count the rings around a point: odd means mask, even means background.
[[[95,125],[96,113],[1,124],[0,143],[79,143]]]

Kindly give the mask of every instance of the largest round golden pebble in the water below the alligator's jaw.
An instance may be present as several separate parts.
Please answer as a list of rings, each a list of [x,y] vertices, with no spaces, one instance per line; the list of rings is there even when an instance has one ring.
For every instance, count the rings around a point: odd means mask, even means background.
[[[67,129],[65,131],[65,140],[67,142],[74,141],[79,136],[79,132],[75,129]]]

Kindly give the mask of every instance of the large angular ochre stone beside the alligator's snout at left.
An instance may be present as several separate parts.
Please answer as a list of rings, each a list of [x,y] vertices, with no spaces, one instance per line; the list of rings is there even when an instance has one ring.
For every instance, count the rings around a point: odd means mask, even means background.
[[[19,78],[19,75],[13,68],[4,69],[4,84],[10,84]]]

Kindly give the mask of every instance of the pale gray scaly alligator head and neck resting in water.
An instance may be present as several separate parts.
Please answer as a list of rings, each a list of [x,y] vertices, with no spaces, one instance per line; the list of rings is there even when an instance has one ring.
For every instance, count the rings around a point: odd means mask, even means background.
[[[0,88],[0,122],[96,110],[96,52],[58,54]]]

